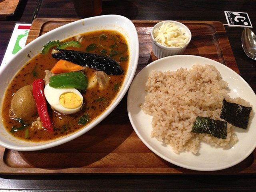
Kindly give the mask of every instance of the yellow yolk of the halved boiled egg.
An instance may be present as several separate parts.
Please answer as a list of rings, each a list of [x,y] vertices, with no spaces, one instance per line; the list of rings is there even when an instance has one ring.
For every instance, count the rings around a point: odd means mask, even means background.
[[[60,104],[68,109],[74,109],[82,104],[82,98],[74,92],[63,93],[60,96]]]

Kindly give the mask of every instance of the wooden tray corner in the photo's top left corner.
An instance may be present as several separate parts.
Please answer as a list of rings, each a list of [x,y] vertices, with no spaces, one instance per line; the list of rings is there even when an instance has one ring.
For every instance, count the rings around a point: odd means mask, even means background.
[[[20,0],[0,0],[0,19],[12,16],[18,7]]]

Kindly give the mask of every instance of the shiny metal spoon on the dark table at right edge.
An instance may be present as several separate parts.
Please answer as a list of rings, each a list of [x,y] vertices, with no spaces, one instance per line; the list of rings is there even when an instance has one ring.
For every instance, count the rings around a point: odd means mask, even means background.
[[[254,32],[249,28],[244,28],[241,40],[245,54],[256,60],[256,35]]]

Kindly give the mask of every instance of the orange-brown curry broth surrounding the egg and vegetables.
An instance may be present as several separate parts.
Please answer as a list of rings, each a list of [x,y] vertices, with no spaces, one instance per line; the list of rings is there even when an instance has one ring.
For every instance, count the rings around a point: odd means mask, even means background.
[[[106,34],[106,36],[100,36],[102,34]],[[91,90],[82,92],[84,97],[84,106],[79,112],[70,115],[60,114],[48,106],[48,113],[54,127],[54,132],[48,132],[42,128],[33,128],[31,123],[35,121],[36,118],[38,118],[37,115],[31,117],[30,119],[24,119],[25,124],[30,123],[30,126],[27,127],[29,130],[29,137],[25,139],[25,128],[24,130],[18,130],[14,133],[10,133],[16,138],[28,140],[31,142],[41,142],[66,136],[84,127],[84,125],[78,124],[78,120],[82,115],[88,114],[90,117],[90,122],[92,122],[98,116],[100,116],[100,114],[102,114],[116,98],[128,69],[129,51],[128,44],[124,36],[114,30],[87,32],[80,35],[83,36],[83,40],[80,42],[82,47],[69,47],[66,49],[85,52],[88,45],[96,44],[97,48],[93,51],[90,51],[91,53],[101,54],[102,49],[106,49],[106,53],[108,55],[112,53],[111,50],[123,52],[122,54],[119,53],[116,56],[112,56],[112,58],[119,62],[120,66],[124,70],[124,73],[121,75],[109,75],[110,80],[108,86],[104,90],[98,90],[97,85]],[[75,40],[75,36],[68,38],[63,42],[71,40]],[[120,61],[120,56],[126,57],[127,60]],[[25,64],[13,78],[12,82],[8,86],[8,89],[6,90],[4,101],[2,103],[2,122],[9,132],[12,129],[12,126],[16,126],[18,128],[22,125],[17,120],[9,117],[9,108],[15,92],[25,85],[32,84],[36,79],[44,78],[44,70],[50,70],[58,62],[58,60],[59,59],[52,58],[51,51],[49,51],[47,54],[40,53],[32,58],[27,64]],[[86,68],[84,71],[88,76],[88,79],[90,79],[90,76],[92,76],[96,70]],[[104,99],[102,100],[102,98]],[[88,123],[86,125],[88,125]]]

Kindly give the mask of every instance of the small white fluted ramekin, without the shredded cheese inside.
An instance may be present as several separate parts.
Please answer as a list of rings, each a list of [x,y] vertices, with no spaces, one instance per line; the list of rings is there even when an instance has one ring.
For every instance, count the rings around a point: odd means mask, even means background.
[[[159,28],[160,26],[162,26],[162,24],[164,22],[175,23],[176,25],[178,25],[180,27],[180,29],[184,29],[186,31],[185,35],[189,37],[189,40],[188,40],[188,42],[186,43],[185,46],[183,46],[183,47],[167,47],[167,46],[163,46],[162,44],[154,41],[154,36],[153,36],[154,29]],[[189,28],[186,25],[184,25],[180,22],[177,22],[177,21],[172,21],[172,20],[161,21],[161,22],[157,23],[152,28],[152,31],[151,31],[152,51],[158,59],[163,58],[163,57],[167,57],[167,56],[171,56],[171,55],[181,55],[181,54],[184,53],[186,47],[190,43],[191,37],[192,37],[191,32],[190,32]]]

